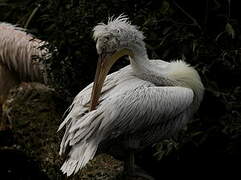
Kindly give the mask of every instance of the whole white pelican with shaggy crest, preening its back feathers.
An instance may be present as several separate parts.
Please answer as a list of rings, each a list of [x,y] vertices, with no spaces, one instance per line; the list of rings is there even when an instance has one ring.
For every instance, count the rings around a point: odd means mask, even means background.
[[[70,176],[97,150],[118,145],[127,155],[124,169],[135,175],[134,152],[184,128],[204,87],[184,61],[149,60],[143,33],[125,15],[95,26],[93,38],[99,55],[94,83],[74,98],[59,126],[66,127],[60,155],[68,151],[61,170]],[[130,65],[107,75],[122,56]]]

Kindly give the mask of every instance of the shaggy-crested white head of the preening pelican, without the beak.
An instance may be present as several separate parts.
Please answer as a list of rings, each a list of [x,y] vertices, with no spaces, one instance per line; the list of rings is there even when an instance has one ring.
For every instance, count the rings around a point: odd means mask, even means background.
[[[138,45],[144,46],[143,33],[125,15],[111,17],[107,24],[100,23],[93,31],[98,54],[113,53],[123,48],[133,51]]]

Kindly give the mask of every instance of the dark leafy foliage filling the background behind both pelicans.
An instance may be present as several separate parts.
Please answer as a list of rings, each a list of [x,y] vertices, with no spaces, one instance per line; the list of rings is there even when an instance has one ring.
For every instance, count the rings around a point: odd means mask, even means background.
[[[34,10],[37,11],[30,18]],[[198,70],[206,89],[200,110],[188,129],[147,149],[139,164],[158,176],[160,168],[173,168],[172,162],[176,160],[191,164],[205,162],[206,170],[213,164],[227,166],[227,161],[238,162],[241,159],[238,1],[0,0],[0,21],[24,27],[30,20],[28,31],[48,41],[50,49],[59,50],[45,63],[49,65],[50,84],[64,97],[65,107],[93,81],[97,61],[93,27],[121,13],[144,32],[150,58],[184,59]],[[121,61],[112,70],[128,63]]]

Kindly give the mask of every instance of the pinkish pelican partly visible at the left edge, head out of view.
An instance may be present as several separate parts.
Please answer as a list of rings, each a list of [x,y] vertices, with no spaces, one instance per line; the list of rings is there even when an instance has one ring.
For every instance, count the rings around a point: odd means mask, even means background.
[[[11,88],[23,81],[46,83],[44,67],[37,58],[49,55],[41,48],[44,43],[20,27],[0,22],[0,114]]]

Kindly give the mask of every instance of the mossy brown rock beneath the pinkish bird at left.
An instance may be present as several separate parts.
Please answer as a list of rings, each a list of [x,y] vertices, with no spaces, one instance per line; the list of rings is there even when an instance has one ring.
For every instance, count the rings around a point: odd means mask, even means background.
[[[12,139],[7,148],[20,151],[36,162],[49,179],[61,179],[58,155],[61,99],[51,88],[38,83],[22,83],[11,90],[3,105],[3,122],[10,127]],[[1,148],[3,149],[3,147]],[[14,172],[13,172],[14,173]]]

